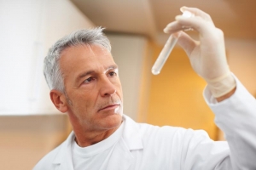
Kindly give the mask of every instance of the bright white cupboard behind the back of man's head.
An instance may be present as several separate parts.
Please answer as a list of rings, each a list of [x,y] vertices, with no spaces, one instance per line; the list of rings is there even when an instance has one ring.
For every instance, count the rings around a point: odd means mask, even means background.
[[[93,24],[68,0],[0,0],[0,115],[58,112],[43,59],[53,43]]]

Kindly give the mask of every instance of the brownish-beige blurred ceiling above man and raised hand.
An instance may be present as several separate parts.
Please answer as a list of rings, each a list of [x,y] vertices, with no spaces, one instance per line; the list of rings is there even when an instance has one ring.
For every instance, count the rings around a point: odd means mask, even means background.
[[[201,8],[225,37],[256,39],[255,0],[71,0],[96,26],[106,31],[141,34],[154,40],[181,14],[182,6]],[[195,33],[195,32],[194,32]],[[190,32],[193,34],[193,31]]]

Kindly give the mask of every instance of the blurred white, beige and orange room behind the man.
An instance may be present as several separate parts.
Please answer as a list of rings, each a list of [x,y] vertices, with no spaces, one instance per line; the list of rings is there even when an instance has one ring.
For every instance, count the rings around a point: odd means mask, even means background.
[[[72,127],[49,99],[43,60],[59,38],[83,28],[106,27],[125,98],[125,114],[158,126],[204,129],[214,125],[202,91],[178,46],[160,75],[154,60],[169,35],[166,25],[182,6],[201,8],[224,31],[230,70],[256,95],[256,1],[246,0],[0,0],[0,169],[32,169],[67,138]],[[188,32],[197,39],[195,31]]]

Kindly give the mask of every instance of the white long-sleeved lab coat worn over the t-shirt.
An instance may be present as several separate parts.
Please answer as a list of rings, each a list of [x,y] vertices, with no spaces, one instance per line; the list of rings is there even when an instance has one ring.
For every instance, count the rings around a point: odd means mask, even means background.
[[[205,131],[182,127],[156,127],[124,116],[122,138],[102,170],[208,170],[256,169],[256,100],[236,79],[236,93],[217,103],[208,89],[207,104],[228,140],[214,142]],[[157,113],[156,113],[157,114]],[[34,170],[73,170],[72,132]]]

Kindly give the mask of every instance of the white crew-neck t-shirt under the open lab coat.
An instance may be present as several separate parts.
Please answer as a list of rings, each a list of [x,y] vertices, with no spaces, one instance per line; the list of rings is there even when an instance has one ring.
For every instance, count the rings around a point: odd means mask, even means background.
[[[80,147],[73,141],[73,168],[75,170],[98,170],[101,169],[112,154],[114,145],[122,136],[124,122],[108,139],[87,147]]]

